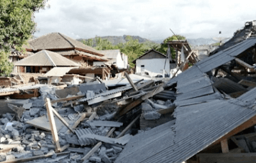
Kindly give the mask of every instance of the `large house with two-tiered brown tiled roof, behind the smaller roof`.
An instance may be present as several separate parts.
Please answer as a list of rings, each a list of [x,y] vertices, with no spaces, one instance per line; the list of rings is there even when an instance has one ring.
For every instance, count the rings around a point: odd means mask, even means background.
[[[65,58],[72,59],[82,65],[92,66],[94,61],[108,61],[98,50],[84,45],[61,33],[49,33],[39,38],[30,40],[26,46],[28,52],[38,52],[40,50],[50,50],[57,52]]]

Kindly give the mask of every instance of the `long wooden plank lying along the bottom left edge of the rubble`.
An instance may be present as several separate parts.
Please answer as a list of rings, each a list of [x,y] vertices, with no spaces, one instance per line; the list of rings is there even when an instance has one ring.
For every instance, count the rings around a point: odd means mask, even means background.
[[[62,152],[62,153],[56,153],[57,156],[59,155],[66,155],[70,153],[70,151],[65,151],[65,152]],[[33,160],[36,160],[36,159],[45,159],[47,157],[51,157],[52,155],[54,155],[55,153],[49,153],[49,154],[46,154],[46,155],[39,155],[39,156],[33,156],[33,157],[29,157],[29,158],[22,158],[22,159],[15,159],[15,160],[6,160],[6,161],[3,161],[1,163],[19,163],[19,162],[29,162],[29,161],[33,161]]]

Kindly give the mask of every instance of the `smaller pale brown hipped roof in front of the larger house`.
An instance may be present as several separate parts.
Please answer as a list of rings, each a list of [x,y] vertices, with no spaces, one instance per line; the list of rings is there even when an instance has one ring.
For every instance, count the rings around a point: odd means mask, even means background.
[[[80,66],[56,52],[41,50],[27,58],[17,61],[15,66]]]

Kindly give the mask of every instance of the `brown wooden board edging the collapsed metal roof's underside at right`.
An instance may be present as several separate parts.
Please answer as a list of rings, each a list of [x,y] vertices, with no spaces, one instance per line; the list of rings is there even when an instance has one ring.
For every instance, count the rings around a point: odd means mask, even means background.
[[[218,139],[212,144],[220,143],[224,139],[229,139],[231,136],[234,136],[237,133],[245,130],[246,128],[252,127],[254,125],[256,125],[256,115],[250,118],[250,120],[245,121],[243,124],[239,125],[239,127],[234,128],[234,130],[228,132],[225,136],[221,137],[220,139]]]

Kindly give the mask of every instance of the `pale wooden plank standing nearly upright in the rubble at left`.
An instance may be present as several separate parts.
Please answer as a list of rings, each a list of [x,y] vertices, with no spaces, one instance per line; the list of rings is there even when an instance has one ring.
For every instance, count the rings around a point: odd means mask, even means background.
[[[58,131],[57,131],[54,116],[52,113],[53,108],[51,106],[51,101],[49,98],[46,98],[46,109],[47,109],[47,115],[49,118],[49,123],[51,126],[52,139],[54,141],[54,145],[56,146],[56,152],[59,152],[61,150],[61,148],[60,148],[60,142],[59,142],[59,137],[58,137]]]

